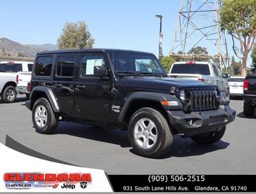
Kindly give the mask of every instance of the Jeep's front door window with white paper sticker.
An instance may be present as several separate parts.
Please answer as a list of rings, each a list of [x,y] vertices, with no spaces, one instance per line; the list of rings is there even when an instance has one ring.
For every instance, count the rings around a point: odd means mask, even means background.
[[[82,77],[93,77],[94,66],[105,66],[105,61],[100,54],[87,54],[82,57],[80,75]]]

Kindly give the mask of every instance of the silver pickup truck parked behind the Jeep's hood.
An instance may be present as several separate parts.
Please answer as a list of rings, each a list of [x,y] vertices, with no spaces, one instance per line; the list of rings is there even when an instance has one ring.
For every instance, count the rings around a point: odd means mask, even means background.
[[[169,70],[168,76],[215,84],[220,91],[229,96],[229,84],[222,75],[219,65],[215,63],[198,61],[175,62]]]

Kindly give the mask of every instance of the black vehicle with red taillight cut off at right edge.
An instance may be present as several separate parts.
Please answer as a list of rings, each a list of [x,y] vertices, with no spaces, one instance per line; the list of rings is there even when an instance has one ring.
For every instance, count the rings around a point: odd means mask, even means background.
[[[243,81],[243,113],[252,117],[256,104],[256,70],[245,77]]]

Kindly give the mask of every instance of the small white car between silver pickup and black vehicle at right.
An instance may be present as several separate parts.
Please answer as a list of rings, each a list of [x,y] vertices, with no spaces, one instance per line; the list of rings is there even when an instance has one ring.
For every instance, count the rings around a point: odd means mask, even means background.
[[[245,77],[229,77],[229,95],[230,98],[233,96],[243,96],[243,80]]]

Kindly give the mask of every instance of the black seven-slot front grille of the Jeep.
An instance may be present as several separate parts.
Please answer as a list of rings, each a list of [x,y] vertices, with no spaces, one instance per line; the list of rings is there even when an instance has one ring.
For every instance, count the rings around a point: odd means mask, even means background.
[[[219,108],[219,90],[217,88],[186,89],[184,112],[214,110]]]

